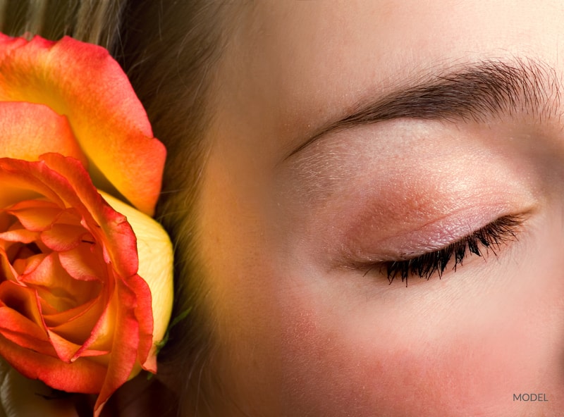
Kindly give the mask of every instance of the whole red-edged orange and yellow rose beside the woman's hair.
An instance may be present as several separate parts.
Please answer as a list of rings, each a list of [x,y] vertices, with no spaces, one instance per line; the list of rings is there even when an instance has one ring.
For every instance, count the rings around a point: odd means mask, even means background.
[[[96,413],[142,368],[156,372],[172,259],[147,215],[164,158],[104,49],[0,38],[0,356],[99,394]]]

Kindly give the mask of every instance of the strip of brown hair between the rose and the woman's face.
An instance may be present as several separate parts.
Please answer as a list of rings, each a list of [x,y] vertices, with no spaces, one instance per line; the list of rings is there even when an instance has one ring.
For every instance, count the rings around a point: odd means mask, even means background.
[[[212,121],[214,70],[227,42],[224,1],[143,1],[124,13],[117,56],[168,152],[157,219],[175,244],[176,286],[161,368],[179,387],[179,415],[206,416],[221,392],[214,375],[212,301],[198,250],[198,196]],[[211,400],[214,397],[214,400]]]

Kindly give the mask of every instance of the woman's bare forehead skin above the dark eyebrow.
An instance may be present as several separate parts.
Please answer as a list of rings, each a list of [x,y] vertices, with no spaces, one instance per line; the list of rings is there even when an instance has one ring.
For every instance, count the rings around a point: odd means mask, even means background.
[[[556,66],[563,17],[561,1],[257,2],[229,44],[220,95],[292,142],[405,78],[486,58]]]

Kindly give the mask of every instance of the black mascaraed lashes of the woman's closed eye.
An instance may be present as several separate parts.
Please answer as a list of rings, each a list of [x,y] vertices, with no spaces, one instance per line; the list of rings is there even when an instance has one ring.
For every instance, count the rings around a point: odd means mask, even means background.
[[[458,265],[462,266],[462,261],[469,254],[483,256],[485,249],[486,254],[491,251],[497,256],[501,244],[516,239],[515,234],[522,221],[520,216],[504,216],[438,251],[422,254],[417,258],[406,259],[405,261],[381,263],[379,266],[382,272],[387,275],[390,284],[398,277],[401,278],[402,282],[405,280],[406,287],[407,278],[410,276],[429,280],[434,273],[437,273],[441,278],[446,266],[453,258],[453,270],[456,270]]]

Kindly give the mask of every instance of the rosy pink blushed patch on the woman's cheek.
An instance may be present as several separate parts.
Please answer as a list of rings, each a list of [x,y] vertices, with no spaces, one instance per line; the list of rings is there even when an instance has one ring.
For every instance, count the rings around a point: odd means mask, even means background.
[[[528,386],[527,373],[511,363],[525,352],[508,361],[505,335],[426,335],[415,323],[367,330],[350,317],[331,325],[325,318],[302,313],[284,349],[285,385],[289,398],[300,398],[293,407],[301,415],[449,416],[460,407],[474,415],[477,404],[511,397],[508,378]]]

